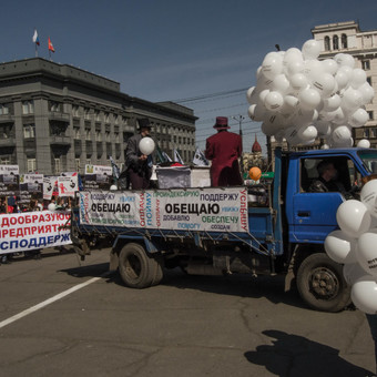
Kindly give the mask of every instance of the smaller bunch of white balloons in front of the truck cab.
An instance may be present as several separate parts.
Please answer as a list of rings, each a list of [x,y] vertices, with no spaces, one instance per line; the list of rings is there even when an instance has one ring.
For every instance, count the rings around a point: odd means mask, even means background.
[[[351,285],[355,306],[377,314],[377,180],[364,185],[360,201],[342,203],[336,220],[340,230],[326,237],[326,253],[344,264],[344,277]]]

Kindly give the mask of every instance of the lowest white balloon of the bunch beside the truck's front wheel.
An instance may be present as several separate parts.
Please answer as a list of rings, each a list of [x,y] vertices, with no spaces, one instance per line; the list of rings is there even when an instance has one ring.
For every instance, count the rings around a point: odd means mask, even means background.
[[[355,306],[367,314],[377,314],[377,283],[374,277],[356,282],[350,291]]]

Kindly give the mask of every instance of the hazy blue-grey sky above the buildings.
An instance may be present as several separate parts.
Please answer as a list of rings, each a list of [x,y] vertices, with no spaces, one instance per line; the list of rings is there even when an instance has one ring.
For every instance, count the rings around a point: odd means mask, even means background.
[[[247,116],[246,90],[264,57],[300,49],[318,24],[358,21],[377,30],[376,0],[13,0],[1,4],[1,62],[51,59],[120,82],[121,91],[194,110],[196,145],[205,147],[216,116],[243,131],[244,151],[261,123]],[[243,119],[244,118],[244,119]]]

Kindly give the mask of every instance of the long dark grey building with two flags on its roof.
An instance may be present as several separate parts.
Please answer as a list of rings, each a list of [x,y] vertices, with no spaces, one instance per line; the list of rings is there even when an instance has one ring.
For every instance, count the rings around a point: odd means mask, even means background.
[[[124,163],[137,120],[149,118],[162,151],[195,153],[191,109],[153,103],[120,91],[120,83],[41,58],[0,64],[0,164],[20,173],[84,172],[85,164]]]

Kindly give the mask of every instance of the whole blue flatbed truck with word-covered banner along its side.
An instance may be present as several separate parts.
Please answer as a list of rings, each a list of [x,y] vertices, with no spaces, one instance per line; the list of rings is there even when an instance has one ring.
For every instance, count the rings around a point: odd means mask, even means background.
[[[257,185],[80,192],[72,241],[81,257],[95,240],[110,242],[110,269],[119,271],[129,287],[156,285],[165,268],[176,267],[193,275],[284,274],[285,289],[296,286],[309,307],[339,312],[350,304],[349,287],[324,242],[338,228],[336,212],[347,198],[309,191],[324,160],[334,163],[338,180],[354,195],[364,177],[377,173],[374,149],[276,149],[273,179]],[[233,203],[236,196],[241,201]],[[141,198],[142,208],[136,205]],[[156,223],[146,226],[152,218]]]

